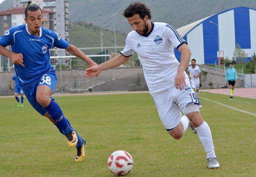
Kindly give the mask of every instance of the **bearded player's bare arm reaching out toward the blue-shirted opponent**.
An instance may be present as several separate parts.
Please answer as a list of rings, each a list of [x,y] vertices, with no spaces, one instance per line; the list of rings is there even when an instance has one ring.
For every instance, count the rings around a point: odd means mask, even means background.
[[[93,66],[91,68],[86,69],[86,76],[88,78],[93,78],[94,76],[97,76],[98,74],[100,74],[100,72],[104,70],[115,68],[117,66],[120,66],[121,64],[128,62],[129,59],[130,57],[125,57],[119,54],[118,56],[115,56],[111,60],[108,60],[100,64],[99,66]]]

